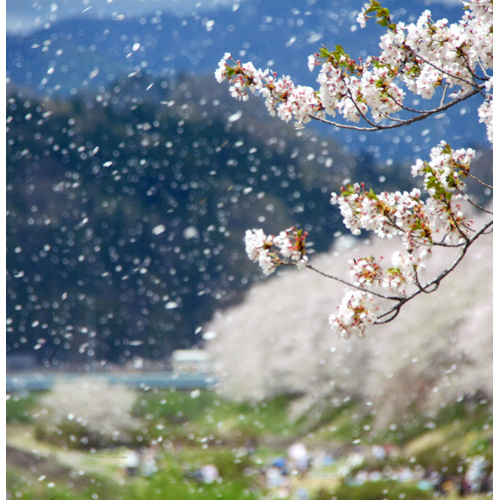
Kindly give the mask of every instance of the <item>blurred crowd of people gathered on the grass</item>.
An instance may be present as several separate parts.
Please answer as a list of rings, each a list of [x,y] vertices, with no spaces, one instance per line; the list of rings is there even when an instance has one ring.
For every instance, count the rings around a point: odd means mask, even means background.
[[[153,444],[150,447],[129,449],[123,462],[125,474],[152,476],[158,470],[156,464],[158,448],[158,444]],[[369,452],[371,457],[366,456],[366,451],[364,450],[364,453],[361,450],[352,451],[338,462],[336,473],[344,476],[346,484],[359,486],[368,481],[395,480],[402,483],[411,481],[417,488],[433,491],[440,496],[448,495],[452,491],[460,496],[493,491],[493,472],[488,461],[482,456],[473,457],[461,475],[452,475],[442,471],[426,470],[423,467],[411,468],[403,465],[395,468],[386,465],[378,470],[373,465],[364,466],[363,464],[367,463],[366,459],[375,458],[376,462],[382,462],[396,451],[390,446],[385,448],[373,446]],[[271,491],[273,498],[308,500],[309,492],[303,484],[301,485],[300,480],[308,477],[313,465],[319,471],[324,466],[333,465],[340,458],[325,451],[316,452],[313,456],[303,443],[296,442],[289,446],[284,456],[275,457],[255,473],[258,474],[261,486]],[[220,480],[217,467],[211,463],[189,470],[186,474],[203,484]],[[317,474],[316,476],[326,477]]]

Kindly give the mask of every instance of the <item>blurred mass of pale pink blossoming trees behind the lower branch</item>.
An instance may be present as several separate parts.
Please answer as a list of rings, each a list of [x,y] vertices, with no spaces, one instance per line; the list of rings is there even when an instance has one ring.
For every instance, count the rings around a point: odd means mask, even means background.
[[[484,217],[473,214],[479,224]],[[316,269],[349,281],[348,260],[389,258],[391,240],[342,236],[317,255]],[[426,276],[437,276],[456,251],[433,249]],[[205,326],[206,349],[219,363],[221,390],[260,399],[301,396],[295,416],[349,398],[376,409],[380,427],[412,411],[435,412],[464,397],[491,400],[493,389],[493,245],[482,237],[439,289],[404,306],[392,322],[364,338],[340,339],[328,317],[346,287],[312,271],[287,269],[256,284],[239,306],[220,311]],[[252,380],[252,384],[248,384]],[[347,399],[346,399],[347,398]]]

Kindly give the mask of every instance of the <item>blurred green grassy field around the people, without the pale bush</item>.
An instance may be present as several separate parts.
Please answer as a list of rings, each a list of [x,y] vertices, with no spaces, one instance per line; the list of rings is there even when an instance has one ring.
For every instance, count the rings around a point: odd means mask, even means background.
[[[285,396],[249,403],[224,399],[214,391],[148,390],[138,392],[132,413],[143,425],[131,433],[129,443],[89,448],[78,434],[85,429],[73,421],[54,435],[40,430],[40,398],[33,393],[7,400],[8,498],[272,500],[278,491],[266,487],[263,467],[285,456],[296,441],[312,452],[328,449],[335,455],[302,479],[290,477],[292,489],[305,488],[311,500],[426,500],[433,498],[432,491],[415,481],[357,484],[354,478],[363,470],[404,466],[460,477],[474,456],[492,463],[491,405],[481,401],[445,407],[432,425],[424,416],[413,416],[399,427],[374,432],[372,416],[355,401],[330,408],[323,404],[321,411],[292,421],[291,399]],[[158,443],[158,470],[150,477],[127,476],[127,449],[151,443]],[[383,460],[370,454],[374,445],[388,443],[397,454]],[[364,450],[364,460],[348,465],[355,450]],[[219,472],[211,484],[196,478],[206,464],[214,464]],[[454,494],[452,490],[449,498]]]

